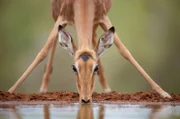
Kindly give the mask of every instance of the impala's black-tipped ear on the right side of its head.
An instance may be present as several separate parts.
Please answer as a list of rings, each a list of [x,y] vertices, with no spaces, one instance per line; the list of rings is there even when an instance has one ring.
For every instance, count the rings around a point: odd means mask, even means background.
[[[114,42],[114,32],[115,28],[111,27],[108,31],[106,31],[99,39],[99,42],[95,48],[97,57],[100,57],[100,55]]]

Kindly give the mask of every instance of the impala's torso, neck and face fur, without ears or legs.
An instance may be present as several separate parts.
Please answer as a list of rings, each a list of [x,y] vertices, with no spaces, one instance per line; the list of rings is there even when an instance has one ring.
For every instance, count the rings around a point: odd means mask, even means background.
[[[91,50],[93,28],[108,13],[112,0],[52,0],[52,14],[56,21],[59,16],[76,28],[78,50],[74,60],[79,71],[76,74],[77,87],[82,99],[91,98],[94,88],[93,64],[98,62],[96,52]],[[90,55],[85,61],[82,54]],[[80,98],[80,99],[81,99]]]

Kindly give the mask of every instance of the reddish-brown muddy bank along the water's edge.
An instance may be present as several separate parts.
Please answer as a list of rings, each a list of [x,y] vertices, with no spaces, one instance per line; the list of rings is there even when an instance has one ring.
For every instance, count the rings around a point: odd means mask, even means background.
[[[178,102],[180,94],[170,94],[172,99],[162,98],[155,92],[136,92],[136,93],[93,93],[93,102]],[[79,101],[79,94],[76,92],[48,92],[44,94],[22,94],[0,91],[0,101]]]

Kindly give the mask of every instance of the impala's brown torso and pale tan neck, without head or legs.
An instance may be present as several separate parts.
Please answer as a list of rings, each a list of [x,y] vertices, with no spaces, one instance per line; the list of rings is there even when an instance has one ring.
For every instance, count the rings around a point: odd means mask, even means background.
[[[95,23],[107,14],[112,0],[52,0],[52,15],[76,28],[79,48],[91,48]]]

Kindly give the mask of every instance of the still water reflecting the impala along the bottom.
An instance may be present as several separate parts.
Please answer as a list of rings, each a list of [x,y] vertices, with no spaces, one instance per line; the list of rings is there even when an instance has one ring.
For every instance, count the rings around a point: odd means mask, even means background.
[[[180,119],[180,106],[98,103],[0,105],[0,119]]]

